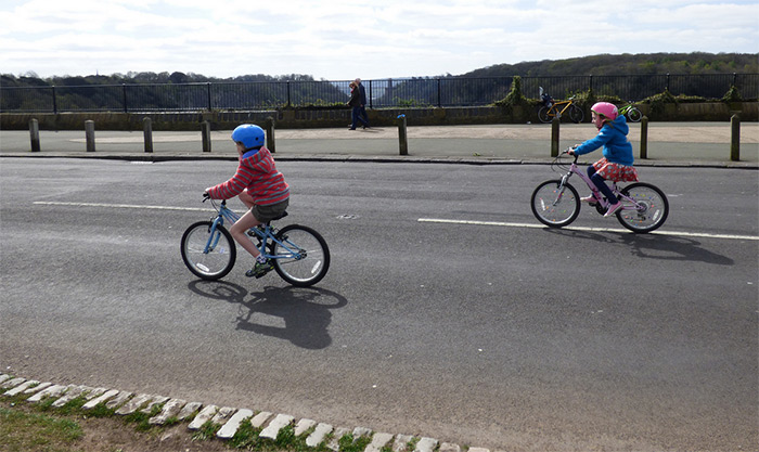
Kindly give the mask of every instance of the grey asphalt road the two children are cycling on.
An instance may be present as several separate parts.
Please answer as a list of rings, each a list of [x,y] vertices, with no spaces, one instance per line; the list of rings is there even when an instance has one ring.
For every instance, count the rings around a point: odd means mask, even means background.
[[[635,235],[538,228],[545,165],[278,166],[316,288],[183,267],[233,163],[2,158],[2,371],[494,450],[756,450],[756,170],[641,169],[671,212]]]

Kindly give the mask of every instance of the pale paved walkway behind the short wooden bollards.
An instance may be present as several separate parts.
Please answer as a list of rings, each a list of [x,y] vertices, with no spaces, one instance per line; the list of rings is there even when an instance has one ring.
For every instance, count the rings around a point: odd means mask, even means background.
[[[640,157],[641,125],[630,125],[638,166],[721,166],[759,168],[759,124],[741,127],[741,162],[730,160],[729,122],[655,122],[648,125],[647,158]],[[198,127],[200,129],[200,127]],[[144,152],[142,131],[95,130],[95,151],[86,152],[85,132],[40,131],[40,153],[31,153],[28,131],[0,131],[0,156],[99,157],[131,159],[235,158],[231,131],[211,132],[211,151],[203,152],[197,132],[153,132],[153,153]],[[366,130],[281,129],[274,132],[278,159],[372,159],[460,162],[475,164],[544,163],[551,157],[550,125],[409,127],[409,155],[399,155],[396,127]],[[562,148],[595,135],[589,124],[562,125]],[[595,159],[600,152],[588,158]]]

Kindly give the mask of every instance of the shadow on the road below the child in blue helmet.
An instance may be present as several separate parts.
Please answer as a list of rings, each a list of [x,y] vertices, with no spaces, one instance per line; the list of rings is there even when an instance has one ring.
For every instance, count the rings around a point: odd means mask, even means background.
[[[332,344],[330,310],[348,304],[342,295],[319,287],[267,286],[252,292],[250,299],[246,288],[226,281],[196,280],[189,288],[207,298],[239,305],[236,330],[288,340],[311,350]]]

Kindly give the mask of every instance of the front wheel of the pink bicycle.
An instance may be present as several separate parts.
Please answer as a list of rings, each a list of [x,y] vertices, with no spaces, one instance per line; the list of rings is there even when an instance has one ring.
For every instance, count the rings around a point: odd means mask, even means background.
[[[580,195],[577,190],[565,183],[564,192],[559,193],[561,184],[559,179],[548,180],[538,185],[530,197],[532,215],[550,228],[568,225],[580,215]]]

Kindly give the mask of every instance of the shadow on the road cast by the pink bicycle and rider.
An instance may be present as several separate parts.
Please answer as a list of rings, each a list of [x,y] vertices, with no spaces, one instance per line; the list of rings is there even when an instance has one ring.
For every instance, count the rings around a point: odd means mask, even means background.
[[[717,266],[732,266],[735,263],[733,259],[726,256],[703,248],[700,242],[690,237],[660,235],[655,233],[600,233],[552,228],[546,229],[546,231],[566,235],[573,238],[586,238],[596,242],[627,245],[630,247],[630,250],[634,256],[646,259],[706,262]]]

